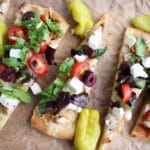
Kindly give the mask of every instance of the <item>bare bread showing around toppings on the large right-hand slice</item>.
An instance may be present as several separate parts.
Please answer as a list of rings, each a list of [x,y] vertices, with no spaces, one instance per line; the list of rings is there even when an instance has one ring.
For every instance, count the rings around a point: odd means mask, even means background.
[[[147,42],[147,46],[148,46],[145,52],[145,57],[150,56],[150,35],[138,29],[128,27],[124,34],[124,40],[123,40],[122,48],[121,48],[120,55],[119,55],[118,68],[124,60],[128,61],[127,55],[128,55],[130,48],[125,44],[126,43],[125,41],[127,40],[128,36],[134,36],[135,38],[137,38],[138,36],[142,36]],[[112,137],[115,132],[121,132],[123,130],[123,126],[126,121],[129,121],[132,119],[131,107],[129,107],[126,103],[122,102],[121,97],[118,96],[115,90],[116,85],[117,85],[117,82],[116,82],[117,78],[118,78],[118,73],[116,74],[116,77],[115,77],[111,100],[112,102],[116,102],[116,101],[121,102],[122,110],[120,110],[120,113],[119,113],[120,116],[119,116],[117,112],[115,112],[115,111],[119,111],[120,109],[119,107],[118,107],[118,110],[113,110],[113,108],[117,109],[117,107],[108,108],[108,113],[105,117],[104,130],[103,130],[103,134],[101,136],[101,141],[99,145],[100,150],[103,149],[107,143],[111,142],[111,140],[113,139]],[[134,104],[135,104],[142,92],[142,89],[133,88],[132,91],[136,93],[136,99],[134,100]]]

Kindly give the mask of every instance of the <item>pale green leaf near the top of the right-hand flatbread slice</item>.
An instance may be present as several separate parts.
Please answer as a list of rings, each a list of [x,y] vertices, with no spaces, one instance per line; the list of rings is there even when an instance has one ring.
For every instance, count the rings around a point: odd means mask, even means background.
[[[144,38],[142,36],[138,36],[135,43],[136,55],[140,57],[144,57],[146,47],[147,45]]]

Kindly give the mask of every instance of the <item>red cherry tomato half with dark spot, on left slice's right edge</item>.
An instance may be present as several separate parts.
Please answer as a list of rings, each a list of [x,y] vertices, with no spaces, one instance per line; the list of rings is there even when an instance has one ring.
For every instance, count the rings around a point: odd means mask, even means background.
[[[42,54],[34,54],[29,59],[29,67],[39,76],[44,76],[48,73],[48,63]]]

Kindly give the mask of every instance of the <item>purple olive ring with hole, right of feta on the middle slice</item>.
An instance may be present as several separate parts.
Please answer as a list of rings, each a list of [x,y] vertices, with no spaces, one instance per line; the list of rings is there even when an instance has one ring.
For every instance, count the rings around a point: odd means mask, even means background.
[[[87,85],[88,87],[92,87],[95,84],[96,79],[97,77],[92,71],[90,70],[85,71],[83,76],[83,82],[85,85]]]

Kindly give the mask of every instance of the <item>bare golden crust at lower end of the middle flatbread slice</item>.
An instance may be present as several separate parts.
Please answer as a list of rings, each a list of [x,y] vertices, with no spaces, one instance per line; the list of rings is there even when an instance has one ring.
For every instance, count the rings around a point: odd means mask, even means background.
[[[51,113],[41,116],[38,111],[38,107],[36,107],[31,118],[31,126],[51,137],[72,140],[74,137],[78,113],[75,111],[66,110],[63,111],[63,114],[60,114],[60,116],[65,117],[67,119],[66,122],[55,122],[55,116]]]

